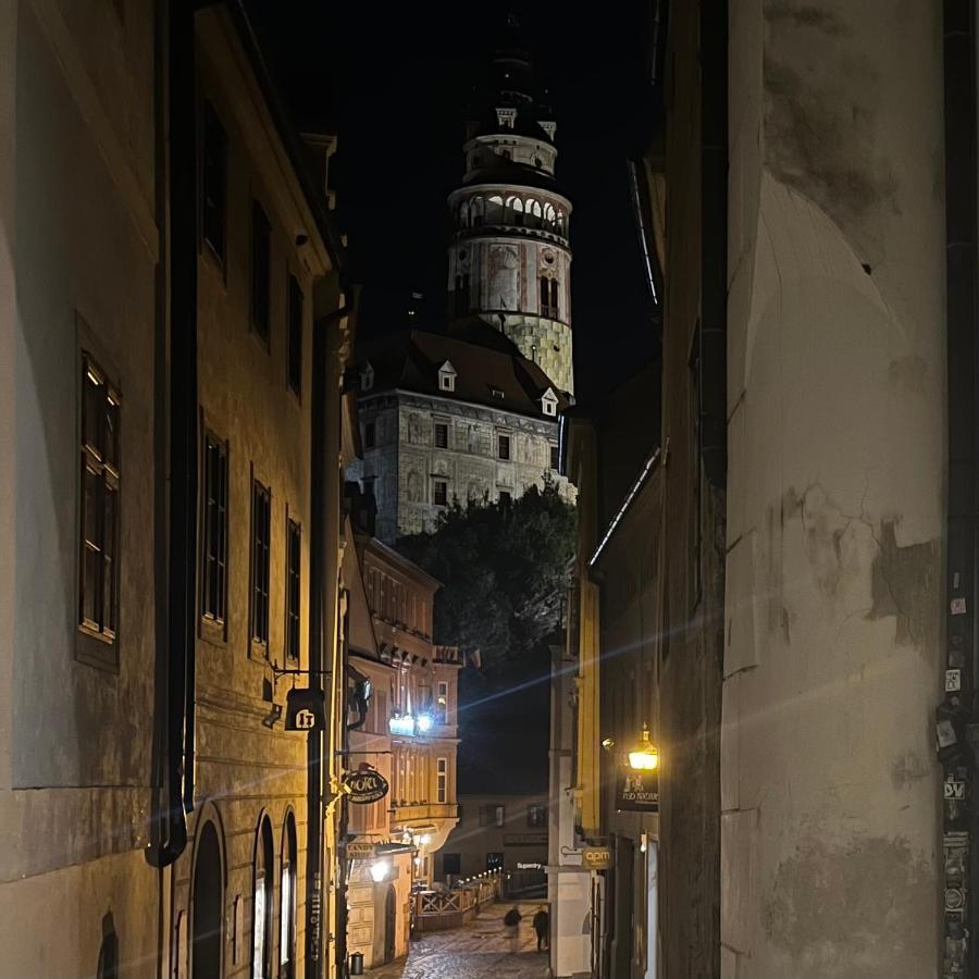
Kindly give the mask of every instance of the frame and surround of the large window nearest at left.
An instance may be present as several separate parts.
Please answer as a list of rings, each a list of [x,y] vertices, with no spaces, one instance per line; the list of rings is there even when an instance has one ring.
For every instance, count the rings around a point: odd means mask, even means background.
[[[120,545],[122,540],[122,396],[119,384],[103,367],[104,360],[89,348],[83,346],[77,363],[76,377],[80,381],[77,404],[77,459],[78,485],[76,491],[77,506],[77,560],[76,575],[76,656],[78,659],[111,671],[119,670],[119,642],[121,632],[121,563]],[[91,388],[95,388],[92,404],[89,404]],[[108,411],[113,406],[112,412]],[[96,431],[89,433],[89,408],[97,411]],[[109,417],[112,414],[112,422]],[[107,442],[107,425],[112,429]],[[95,439],[89,442],[89,435]],[[110,445],[111,443],[111,445]],[[111,455],[110,455],[111,454]],[[92,536],[88,536],[89,516],[87,507],[87,488],[89,476],[94,478],[95,506],[91,516],[96,528]],[[107,534],[107,501],[112,499],[112,528]],[[111,540],[110,540],[111,537]],[[90,558],[89,555],[95,555]],[[91,597],[87,587],[89,580],[89,561],[97,565],[97,583]],[[109,612],[106,610],[107,561]],[[87,615],[89,598],[97,618]]]

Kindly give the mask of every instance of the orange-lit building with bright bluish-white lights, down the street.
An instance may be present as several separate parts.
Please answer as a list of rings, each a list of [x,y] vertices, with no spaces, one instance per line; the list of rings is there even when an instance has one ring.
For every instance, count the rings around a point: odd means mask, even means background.
[[[411,892],[458,821],[458,650],[436,646],[438,582],[348,524],[347,768],[388,794],[346,804],[347,944],[367,967],[408,953]]]

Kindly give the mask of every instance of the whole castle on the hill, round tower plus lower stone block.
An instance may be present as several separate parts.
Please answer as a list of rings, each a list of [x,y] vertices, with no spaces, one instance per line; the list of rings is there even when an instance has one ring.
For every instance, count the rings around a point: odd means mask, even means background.
[[[571,203],[556,186],[556,123],[530,57],[491,62],[448,198],[448,334],[393,334],[357,361],[363,459],[385,543],[435,526],[454,500],[516,498],[558,475],[573,400]]]

